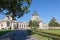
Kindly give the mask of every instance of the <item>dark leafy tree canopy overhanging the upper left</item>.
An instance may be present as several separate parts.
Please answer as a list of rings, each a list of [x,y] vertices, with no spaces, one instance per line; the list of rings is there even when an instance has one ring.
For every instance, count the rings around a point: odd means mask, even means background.
[[[0,13],[11,15],[12,18],[21,17],[28,13],[32,0],[0,0]],[[4,13],[3,11],[6,10]]]

